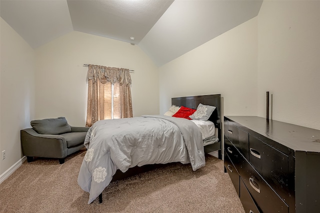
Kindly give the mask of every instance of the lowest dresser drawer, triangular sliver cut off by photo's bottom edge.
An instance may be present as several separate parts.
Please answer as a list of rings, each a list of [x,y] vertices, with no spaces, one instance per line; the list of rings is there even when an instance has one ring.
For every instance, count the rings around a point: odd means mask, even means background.
[[[245,213],[260,213],[250,193],[240,178],[240,201]]]

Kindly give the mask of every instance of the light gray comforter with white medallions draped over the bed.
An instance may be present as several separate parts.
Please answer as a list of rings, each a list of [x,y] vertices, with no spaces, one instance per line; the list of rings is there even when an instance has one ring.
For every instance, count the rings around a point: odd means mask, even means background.
[[[169,162],[205,165],[201,132],[184,118],[141,116],[94,123],[87,132],[78,184],[90,204],[109,185],[117,169]]]

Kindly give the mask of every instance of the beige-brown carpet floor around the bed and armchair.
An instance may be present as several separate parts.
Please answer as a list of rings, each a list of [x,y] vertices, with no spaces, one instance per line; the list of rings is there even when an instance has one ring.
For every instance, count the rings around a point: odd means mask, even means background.
[[[112,182],[91,204],[77,184],[85,154],[24,162],[0,184],[2,213],[244,213],[223,161],[206,157],[193,172],[189,164],[169,164]]]

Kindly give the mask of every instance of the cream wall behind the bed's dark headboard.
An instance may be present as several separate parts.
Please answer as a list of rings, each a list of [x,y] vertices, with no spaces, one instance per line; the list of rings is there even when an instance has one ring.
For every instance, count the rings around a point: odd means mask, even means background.
[[[225,115],[257,113],[257,18],[159,68],[160,113],[171,97],[221,94]]]

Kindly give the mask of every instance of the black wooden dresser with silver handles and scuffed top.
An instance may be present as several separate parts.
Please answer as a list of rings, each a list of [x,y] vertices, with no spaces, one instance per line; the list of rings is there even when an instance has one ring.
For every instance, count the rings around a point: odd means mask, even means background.
[[[224,116],[224,171],[246,213],[320,212],[320,131]]]

